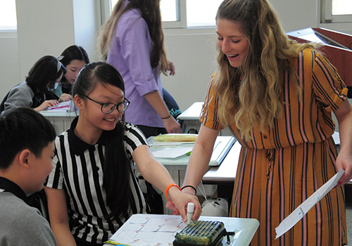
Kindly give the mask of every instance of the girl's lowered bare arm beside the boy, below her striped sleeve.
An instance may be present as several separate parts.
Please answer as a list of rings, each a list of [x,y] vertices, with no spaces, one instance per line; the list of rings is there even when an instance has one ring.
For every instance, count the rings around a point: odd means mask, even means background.
[[[51,230],[53,230],[58,246],[76,245],[68,224],[68,211],[65,190],[44,187],[48,200]]]

